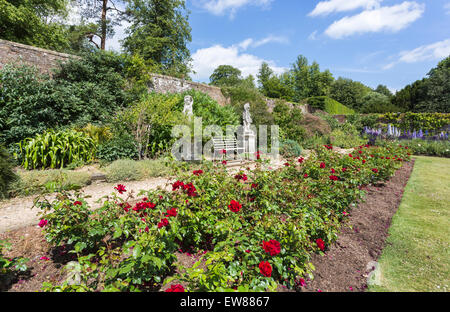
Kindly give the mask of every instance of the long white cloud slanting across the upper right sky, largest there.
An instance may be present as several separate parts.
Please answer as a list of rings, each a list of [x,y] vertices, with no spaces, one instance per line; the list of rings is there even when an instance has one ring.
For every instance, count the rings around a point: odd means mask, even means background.
[[[398,5],[367,10],[350,17],[346,16],[331,24],[325,34],[333,39],[340,39],[368,32],[397,32],[419,19],[424,11],[424,4],[405,1]]]

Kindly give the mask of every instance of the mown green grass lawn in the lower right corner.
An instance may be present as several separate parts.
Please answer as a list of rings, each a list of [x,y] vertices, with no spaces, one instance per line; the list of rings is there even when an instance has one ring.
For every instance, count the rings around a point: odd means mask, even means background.
[[[415,158],[369,291],[450,290],[450,159]]]

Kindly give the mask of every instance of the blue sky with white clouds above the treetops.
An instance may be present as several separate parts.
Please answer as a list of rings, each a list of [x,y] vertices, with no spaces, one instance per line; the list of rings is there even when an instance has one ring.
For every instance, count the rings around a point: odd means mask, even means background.
[[[281,73],[302,54],[335,78],[399,90],[450,55],[450,0],[186,3],[197,72],[192,77],[199,82],[208,82],[221,64],[255,75],[266,61]]]

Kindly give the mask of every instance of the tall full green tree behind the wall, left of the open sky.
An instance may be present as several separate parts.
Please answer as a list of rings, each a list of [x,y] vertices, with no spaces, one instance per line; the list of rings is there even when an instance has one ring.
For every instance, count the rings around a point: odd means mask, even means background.
[[[165,74],[185,77],[191,71],[187,43],[192,40],[185,1],[128,1],[125,51],[151,60]]]

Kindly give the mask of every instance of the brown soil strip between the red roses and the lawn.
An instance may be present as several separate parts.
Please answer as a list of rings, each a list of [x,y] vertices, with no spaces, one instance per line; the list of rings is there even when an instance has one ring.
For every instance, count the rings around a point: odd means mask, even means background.
[[[365,188],[367,195],[349,215],[325,256],[313,255],[314,280],[306,281],[303,291],[364,291],[373,263],[385,246],[391,220],[402,200],[414,160],[405,163],[387,182]]]

